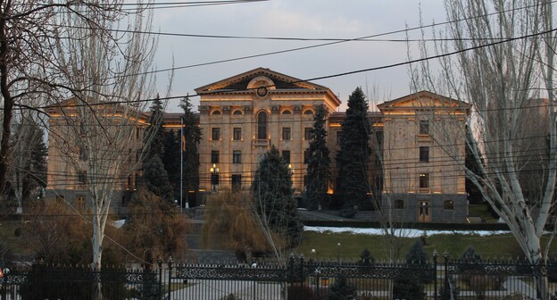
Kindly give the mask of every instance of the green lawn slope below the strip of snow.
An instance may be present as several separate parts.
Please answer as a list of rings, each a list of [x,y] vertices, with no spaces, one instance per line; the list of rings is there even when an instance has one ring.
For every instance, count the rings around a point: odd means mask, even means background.
[[[312,249],[315,249],[317,259],[336,260],[337,256],[345,259],[357,259],[363,249],[370,250],[371,255],[378,261],[384,261],[386,251],[384,245],[387,239],[381,236],[365,234],[353,234],[348,232],[331,233],[304,231],[303,241],[297,247],[296,253],[303,254],[307,258],[312,257]],[[417,238],[397,237],[400,246],[399,257],[403,259]],[[340,243],[340,246],[337,244]],[[485,259],[516,259],[523,257],[520,247],[511,234],[480,236],[472,234],[449,234],[432,235],[426,237],[425,249],[429,254],[435,250],[442,256],[445,252],[449,257],[459,258],[467,247],[472,246],[477,254]],[[551,253],[557,252],[557,245],[553,243]]]

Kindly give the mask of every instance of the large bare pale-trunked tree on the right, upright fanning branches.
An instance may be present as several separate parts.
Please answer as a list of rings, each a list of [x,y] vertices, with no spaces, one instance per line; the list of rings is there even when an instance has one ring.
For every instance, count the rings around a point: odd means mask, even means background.
[[[441,56],[438,77],[431,70],[432,63],[412,66],[413,86],[440,90],[473,104],[469,125],[473,134],[466,145],[480,167],[467,169],[466,175],[509,226],[528,261],[542,264],[556,227],[551,218],[557,174],[553,4],[545,0],[447,0],[445,10],[447,29],[434,36],[452,42],[436,42],[432,48],[436,54],[453,55]],[[428,56],[429,52],[422,44],[420,53]],[[533,100],[541,96],[546,100]],[[528,110],[534,107],[540,108],[541,118],[527,120]],[[540,123],[543,129],[523,128],[542,119],[546,120]],[[443,130],[438,132],[437,138],[443,138]],[[524,144],[537,144],[543,150]],[[450,148],[445,151],[453,153]],[[533,161],[539,162],[536,185],[521,179],[528,176],[527,163]],[[553,233],[543,246],[541,237],[547,228]],[[539,298],[549,298],[546,278],[537,278],[536,287]]]

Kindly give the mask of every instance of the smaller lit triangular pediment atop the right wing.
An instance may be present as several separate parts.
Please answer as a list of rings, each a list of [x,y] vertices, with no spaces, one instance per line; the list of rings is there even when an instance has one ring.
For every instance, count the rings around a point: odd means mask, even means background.
[[[393,110],[436,110],[457,109],[470,110],[471,105],[429,91],[420,91],[408,96],[378,104],[381,112]]]

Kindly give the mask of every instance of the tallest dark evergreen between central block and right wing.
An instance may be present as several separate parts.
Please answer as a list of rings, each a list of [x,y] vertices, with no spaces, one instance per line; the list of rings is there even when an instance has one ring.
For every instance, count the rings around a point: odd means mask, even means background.
[[[370,127],[368,103],[365,101],[362,88],[357,87],[348,98],[348,109],[342,123],[340,150],[337,154],[337,189],[344,197],[341,214],[346,217],[353,216],[356,205],[369,204]]]

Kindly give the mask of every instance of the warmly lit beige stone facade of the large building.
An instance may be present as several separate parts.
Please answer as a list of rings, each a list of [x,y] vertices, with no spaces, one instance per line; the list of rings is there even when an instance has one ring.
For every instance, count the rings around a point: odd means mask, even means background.
[[[276,146],[292,169],[295,196],[303,197],[307,169],[304,153],[318,105],[324,105],[328,112],[332,172],[328,192],[335,194],[335,157],[345,112],[337,112],[340,100],[328,87],[258,68],[198,87],[195,92],[200,96],[197,116],[203,133],[198,195],[223,188],[248,189],[260,156]],[[470,105],[422,91],[378,104],[378,110],[370,112],[373,134],[369,178],[381,212],[392,210],[398,221],[466,221],[464,128]],[[52,132],[48,190],[52,195],[83,201],[87,193],[79,183],[79,174],[72,170],[84,162],[79,162],[79,150],[68,151],[67,137],[78,136],[66,132],[79,129],[79,113],[68,118],[56,106],[47,111]],[[165,127],[179,131],[179,118],[180,113],[166,113]],[[130,162],[136,161],[134,154],[140,149],[148,115],[137,112],[133,119],[137,135],[125,149]],[[70,162],[64,159],[67,155],[78,159]],[[118,188],[122,201],[115,204],[124,204],[135,189],[140,174],[131,174],[121,179]],[[359,216],[377,220],[378,212],[362,212]]]

